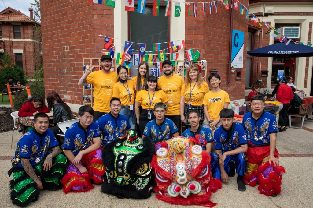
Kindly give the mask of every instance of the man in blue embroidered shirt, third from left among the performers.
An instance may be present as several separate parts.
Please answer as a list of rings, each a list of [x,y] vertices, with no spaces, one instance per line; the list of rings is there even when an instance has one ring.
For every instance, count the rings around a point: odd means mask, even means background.
[[[116,138],[125,136],[131,128],[126,116],[120,114],[121,109],[121,100],[112,98],[110,100],[110,112],[96,121],[103,135],[103,145],[112,142]]]

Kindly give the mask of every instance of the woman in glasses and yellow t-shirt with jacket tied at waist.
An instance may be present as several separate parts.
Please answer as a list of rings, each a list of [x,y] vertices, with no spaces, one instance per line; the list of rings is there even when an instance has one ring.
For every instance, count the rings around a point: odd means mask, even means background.
[[[135,129],[136,123],[131,121],[135,116],[134,103],[135,103],[135,87],[132,80],[127,80],[128,69],[126,66],[120,65],[117,67],[117,75],[119,81],[113,85],[113,98],[119,98],[121,100],[122,109],[120,114],[128,118],[131,124],[131,129]]]

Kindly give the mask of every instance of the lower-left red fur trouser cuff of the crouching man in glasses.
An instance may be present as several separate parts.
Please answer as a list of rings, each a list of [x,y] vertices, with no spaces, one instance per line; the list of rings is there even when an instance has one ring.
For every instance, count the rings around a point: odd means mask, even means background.
[[[65,186],[65,184],[68,183],[68,181],[71,179],[71,178],[76,178],[76,179],[79,179],[80,177],[85,177],[85,180],[84,181],[80,181],[80,180],[74,180],[72,181],[68,187]],[[74,172],[69,172],[69,173],[66,173],[65,176],[62,178],[62,184],[63,184],[63,192],[65,194],[67,194],[68,192],[87,192],[91,189],[94,188],[94,186],[90,183],[89,181],[89,175],[87,173],[84,173],[82,175],[78,175],[77,173],[74,173]],[[72,188],[74,186],[85,186],[86,188],[82,189],[82,190],[72,190]]]

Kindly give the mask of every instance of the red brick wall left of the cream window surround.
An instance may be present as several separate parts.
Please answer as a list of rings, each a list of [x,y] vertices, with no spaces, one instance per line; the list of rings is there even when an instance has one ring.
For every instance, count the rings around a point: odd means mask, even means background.
[[[65,102],[82,104],[82,58],[100,57],[104,38],[114,37],[113,8],[86,0],[41,0],[46,94],[56,91]],[[97,63],[93,63],[97,64]]]

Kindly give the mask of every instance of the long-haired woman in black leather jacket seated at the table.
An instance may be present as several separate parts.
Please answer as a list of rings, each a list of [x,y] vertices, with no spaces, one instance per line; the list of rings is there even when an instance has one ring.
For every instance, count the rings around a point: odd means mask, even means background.
[[[49,129],[56,135],[57,133],[60,133],[60,129],[58,127],[58,123],[62,121],[67,121],[74,119],[73,113],[69,106],[62,100],[58,93],[52,91],[47,94],[47,103],[49,110],[53,109],[53,123],[54,127],[50,127]],[[60,143],[60,138],[56,138]]]

